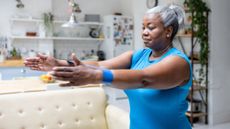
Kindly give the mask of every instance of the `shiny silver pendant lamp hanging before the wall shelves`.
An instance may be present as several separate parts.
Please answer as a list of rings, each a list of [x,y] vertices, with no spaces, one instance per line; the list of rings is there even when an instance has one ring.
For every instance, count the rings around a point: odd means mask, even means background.
[[[64,23],[62,27],[75,28],[78,26],[77,17],[75,14],[80,13],[81,9],[79,5],[74,2],[74,0],[68,0],[68,2],[69,2],[69,6],[71,6],[71,15],[69,21],[67,23]]]

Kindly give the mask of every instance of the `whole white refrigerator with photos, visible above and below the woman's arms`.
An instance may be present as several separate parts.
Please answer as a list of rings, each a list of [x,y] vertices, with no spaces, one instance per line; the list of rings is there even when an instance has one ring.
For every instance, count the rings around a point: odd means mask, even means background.
[[[128,50],[133,50],[133,19],[127,16],[108,15],[104,17],[104,42],[102,50],[106,59],[116,57]],[[108,102],[113,105],[129,107],[127,96],[123,90],[105,87]]]

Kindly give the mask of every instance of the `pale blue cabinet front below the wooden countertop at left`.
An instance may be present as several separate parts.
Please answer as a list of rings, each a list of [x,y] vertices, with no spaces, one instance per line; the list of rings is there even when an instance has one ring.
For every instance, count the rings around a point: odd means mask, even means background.
[[[0,68],[0,74],[2,80],[10,80],[19,77],[40,76],[46,72],[34,71],[26,67],[7,67]]]

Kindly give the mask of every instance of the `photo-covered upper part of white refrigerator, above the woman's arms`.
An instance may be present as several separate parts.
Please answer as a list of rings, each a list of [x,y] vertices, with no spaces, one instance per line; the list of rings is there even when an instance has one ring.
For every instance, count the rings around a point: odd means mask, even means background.
[[[128,16],[104,16],[104,43],[102,50],[106,59],[116,57],[128,50],[133,50],[133,18]]]

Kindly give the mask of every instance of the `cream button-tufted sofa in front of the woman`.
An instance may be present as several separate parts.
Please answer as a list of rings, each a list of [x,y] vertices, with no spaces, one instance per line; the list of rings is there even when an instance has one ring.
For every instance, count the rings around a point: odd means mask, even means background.
[[[0,95],[0,129],[128,129],[101,87]]]

